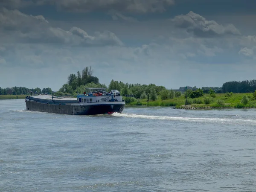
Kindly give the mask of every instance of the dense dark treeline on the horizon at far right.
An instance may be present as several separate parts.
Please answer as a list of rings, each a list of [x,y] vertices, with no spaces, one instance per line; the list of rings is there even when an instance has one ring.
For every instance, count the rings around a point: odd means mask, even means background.
[[[229,81],[222,85],[224,93],[253,93],[256,90],[256,80]]]

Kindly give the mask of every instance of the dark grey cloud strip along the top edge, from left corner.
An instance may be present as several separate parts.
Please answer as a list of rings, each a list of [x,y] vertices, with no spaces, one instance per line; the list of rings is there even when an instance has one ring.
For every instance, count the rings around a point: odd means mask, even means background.
[[[11,9],[52,4],[67,12],[116,10],[119,12],[164,12],[174,0],[2,0],[0,5]]]

